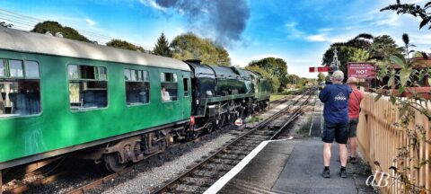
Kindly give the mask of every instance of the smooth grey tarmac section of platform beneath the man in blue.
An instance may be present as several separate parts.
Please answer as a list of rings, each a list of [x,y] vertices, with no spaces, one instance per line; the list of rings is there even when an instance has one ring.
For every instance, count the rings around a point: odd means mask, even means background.
[[[318,139],[304,140],[295,145],[283,172],[280,173],[273,190],[292,193],[357,193],[352,176],[339,177],[338,145],[332,145],[331,178],[321,177],[323,171],[322,143]]]

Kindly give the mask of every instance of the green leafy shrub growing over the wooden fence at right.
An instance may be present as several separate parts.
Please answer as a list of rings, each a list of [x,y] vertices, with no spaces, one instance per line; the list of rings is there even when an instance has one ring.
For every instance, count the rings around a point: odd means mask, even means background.
[[[414,52],[409,48],[414,47],[414,45],[409,43],[408,34],[403,34],[402,38],[405,44],[402,47],[404,55],[390,55],[384,57],[386,58],[385,60],[379,61],[380,69],[377,78],[381,81],[388,81],[387,84],[376,90],[377,95],[374,100],[378,101],[383,95],[387,95],[391,103],[398,106],[400,120],[393,123],[393,125],[405,132],[410,144],[398,148],[398,155],[393,161],[398,163],[399,166],[398,168],[391,166],[390,169],[400,177],[399,181],[404,183],[406,192],[423,193],[424,187],[412,184],[409,174],[412,171],[418,173],[421,168],[430,163],[427,160],[419,160],[419,145],[423,143],[431,144],[431,139],[426,139],[429,128],[416,125],[415,128],[411,129],[409,126],[410,122],[414,120],[415,110],[418,110],[421,114],[427,116],[428,120],[431,120],[431,112],[421,103],[423,101],[429,102],[429,100],[416,93],[413,89],[413,87],[420,86],[419,83],[426,78],[428,79],[427,82],[431,83],[431,69],[427,67],[423,60],[409,58],[409,54]],[[423,57],[427,59],[426,55]],[[411,95],[400,98],[405,92],[409,92]],[[410,169],[405,161],[414,163],[413,169]]]

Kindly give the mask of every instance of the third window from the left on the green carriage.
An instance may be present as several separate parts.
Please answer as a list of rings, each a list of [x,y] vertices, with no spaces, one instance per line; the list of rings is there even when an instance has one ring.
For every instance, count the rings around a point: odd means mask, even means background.
[[[124,69],[126,81],[126,102],[140,105],[150,102],[150,76],[147,71]]]

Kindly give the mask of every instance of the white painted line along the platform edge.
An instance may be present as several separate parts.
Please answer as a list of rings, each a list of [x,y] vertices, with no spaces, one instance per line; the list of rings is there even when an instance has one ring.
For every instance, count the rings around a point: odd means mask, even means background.
[[[260,143],[256,148],[253,149],[253,151],[251,151],[250,154],[248,154],[247,156],[245,156],[242,161],[238,164],[235,165],[235,167],[233,167],[233,169],[229,172],[227,172],[226,174],[224,174],[224,176],[222,178],[220,178],[218,181],[216,181],[216,183],[214,183],[210,188],[208,188],[208,190],[206,190],[204,192],[204,194],[212,194],[212,193],[217,193],[219,190],[221,190],[224,185],[231,181],[231,179],[236,176],[236,174],[238,174],[239,172],[242,171],[242,169],[251,162],[251,159],[253,159],[257,154],[259,154],[259,152],[266,146],[268,145],[268,143],[271,141],[264,141],[262,143]]]

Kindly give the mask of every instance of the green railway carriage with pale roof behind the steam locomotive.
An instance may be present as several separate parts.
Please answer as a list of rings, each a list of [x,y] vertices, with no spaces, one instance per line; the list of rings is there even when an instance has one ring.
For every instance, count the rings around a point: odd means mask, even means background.
[[[7,28],[0,42],[0,171],[94,145],[116,171],[189,125],[184,62]]]

